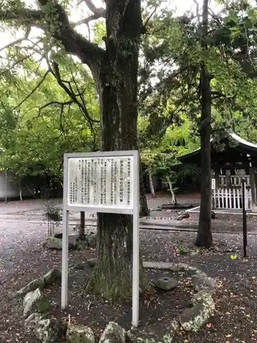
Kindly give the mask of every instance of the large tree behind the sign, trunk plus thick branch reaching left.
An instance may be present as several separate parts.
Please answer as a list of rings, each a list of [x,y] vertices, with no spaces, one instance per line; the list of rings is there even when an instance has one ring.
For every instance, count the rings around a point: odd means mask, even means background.
[[[79,34],[64,6],[55,0],[39,0],[37,9],[26,8],[24,3],[12,3],[2,8],[0,18],[16,27],[25,27],[27,32],[30,27],[40,27],[45,32],[44,43],[47,40],[49,50],[56,46],[86,64],[99,95],[101,150],[137,149],[138,51],[140,34],[145,32],[140,0],[106,1],[105,9],[96,8],[90,0],[84,3],[93,12],[91,19],[106,18],[105,49]],[[80,23],[88,23],[89,19]],[[53,60],[49,71],[60,81],[56,67]],[[97,263],[90,287],[108,298],[129,296],[132,218],[98,213],[97,222]],[[141,276],[143,282],[143,272]],[[142,287],[145,287],[144,282]]]

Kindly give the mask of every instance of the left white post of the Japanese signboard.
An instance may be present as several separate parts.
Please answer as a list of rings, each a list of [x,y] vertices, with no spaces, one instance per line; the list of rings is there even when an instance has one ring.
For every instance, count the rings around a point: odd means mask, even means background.
[[[62,299],[64,309],[68,305],[68,272],[69,272],[69,211],[66,209],[68,196],[68,158],[64,155],[63,213],[62,213]]]

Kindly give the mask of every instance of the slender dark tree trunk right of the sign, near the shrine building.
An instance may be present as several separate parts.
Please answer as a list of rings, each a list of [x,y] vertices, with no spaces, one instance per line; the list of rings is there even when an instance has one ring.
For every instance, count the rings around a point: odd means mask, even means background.
[[[204,0],[203,5],[203,39],[208,32],[208,0]],[[207,49],[206,43],[202,43],[202,48]],[[199,227],[195,244],[197,246],[212,246],[211,233],[211,91],[210,78],[206,71],[204,62],[201,62],[201,206],[199,214]]]

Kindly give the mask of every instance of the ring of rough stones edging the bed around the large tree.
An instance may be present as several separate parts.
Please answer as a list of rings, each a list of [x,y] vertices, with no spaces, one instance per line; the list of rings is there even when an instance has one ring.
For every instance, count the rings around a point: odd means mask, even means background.
[[[103,335],[99,340],[99,343],[114,343],[114,342],[134,342],[134,343],[171,343],[175,338],[176,333],[181,329],[184,331],[198,331],[203,324],[208,322],[210,316],[212,316],[215,310],[215,303],[212,298],[212,293],[215,291],[215,280],[208,277],[201,270],[191,267],[185,263],[169,263],[169,262],[143,262],[143,266],[146,269],[154,270],[171,270],[173,272],[188,272],[192,277],[192,283],[196,294],[190,300],[191,307],[184,309],[177,320],[172,320],[169,325],[168,332],[162,337],[156,340],[155,338],[138,337],[138,330],[125,331],[117,323],[110,322]],[[45,311],[40,311],[36,306],[36,302],[42,302],[43,294],[40,292],[42,289],[42,280],[45,282],[44,285],[55,282],[60,278],[60,271],[51,270],[42,278],[37,279],[37,282],[29,283],[29,285],[23,287],[16,295],[23,296],[26,291],[29,291],[25,295],[25,303],[29,305],[29,311],[25,316],[25,327],[32,330],[34,334],[42,343],[57,343],[60,341],[60,336],[66,334],[67,342],[75,343],[77,337],[85,335],[88,340],[85,342],[96,343],[95,336],[93,335],[92,329],[79,324],[69,324],[66,326],[64,323],[58,322],[56,318],[49,317]],[[36,285],[40,288],[36,288]],[[32,290],[33,289],[33,290]],[[28,306],[27,305],[27,306]],[[34,311],[33,311],[34,310]],[[136,335],[134,334],[136,332]],[[140,332],[139,332],[139,335]],[[145,336],[145,333],[142,332]],[[45,340],[49,337],[49,340]],[[79,342],[84,342],[80,341]]]

